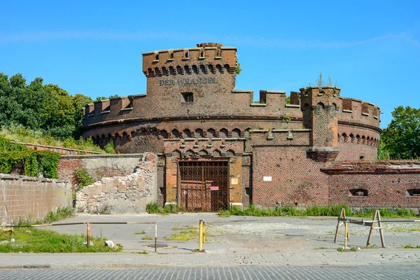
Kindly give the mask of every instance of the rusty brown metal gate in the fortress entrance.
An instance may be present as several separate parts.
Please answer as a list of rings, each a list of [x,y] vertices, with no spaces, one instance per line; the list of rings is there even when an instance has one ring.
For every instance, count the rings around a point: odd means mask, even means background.
[[[229,169],[226,161],[180,161],[179,195],[188,211],[228,209]]]

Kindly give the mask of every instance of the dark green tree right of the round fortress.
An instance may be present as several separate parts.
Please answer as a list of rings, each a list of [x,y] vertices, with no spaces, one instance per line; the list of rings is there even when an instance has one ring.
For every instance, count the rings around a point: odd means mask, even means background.
[[[382,151],[392,159],[417,158],[420,155],[420,109],[398,106],[393,120],[381,134]]]

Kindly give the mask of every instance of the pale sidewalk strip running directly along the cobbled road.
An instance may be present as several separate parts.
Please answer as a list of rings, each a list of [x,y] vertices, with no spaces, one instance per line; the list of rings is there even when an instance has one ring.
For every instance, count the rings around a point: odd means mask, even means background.
[[[420,249],[307,253],[2,253],[0,269],[420,264]]]

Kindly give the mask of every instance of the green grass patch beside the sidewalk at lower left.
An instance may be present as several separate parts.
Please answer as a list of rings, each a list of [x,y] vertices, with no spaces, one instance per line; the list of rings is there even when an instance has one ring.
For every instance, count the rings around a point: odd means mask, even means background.
[[[123,246],[109,248],[104,246],[106,239],[90,237],[92,246],[87,247],[85,235],[66,235],[51,230],[38,230],[36,228],[15,228],[13,232],[0,232],[0,241],[15,242],[0,244],[0,253],[98,253],[118,252]]]

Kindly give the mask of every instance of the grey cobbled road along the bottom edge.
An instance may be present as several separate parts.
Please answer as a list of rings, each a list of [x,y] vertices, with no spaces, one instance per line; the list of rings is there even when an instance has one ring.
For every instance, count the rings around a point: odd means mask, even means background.
[[[4,269],[0,279],[420,279],[420,265]]]

